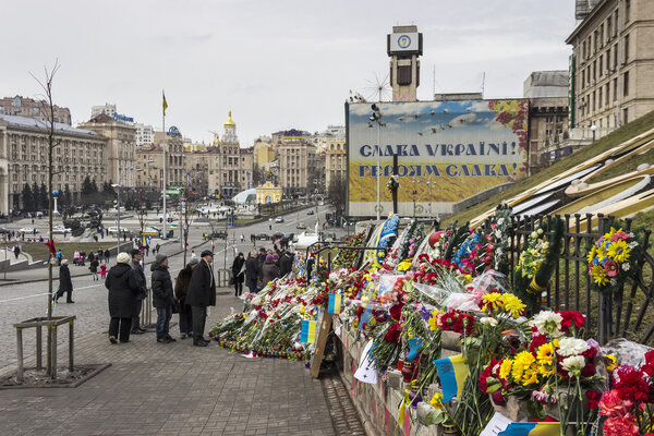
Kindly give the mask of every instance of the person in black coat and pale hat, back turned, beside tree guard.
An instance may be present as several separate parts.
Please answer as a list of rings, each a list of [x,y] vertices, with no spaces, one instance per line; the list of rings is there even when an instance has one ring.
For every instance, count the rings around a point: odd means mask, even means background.
[[[109,290],[109,341],[121,342],[130,341],[130,330],[132,327],[132,317],[134,316],[134,305],[136,294],[138,293],[138,282],[136,276],[130,267],[130,255],[119,253],[116,257],[117,264],[109,269],[105,288]]]

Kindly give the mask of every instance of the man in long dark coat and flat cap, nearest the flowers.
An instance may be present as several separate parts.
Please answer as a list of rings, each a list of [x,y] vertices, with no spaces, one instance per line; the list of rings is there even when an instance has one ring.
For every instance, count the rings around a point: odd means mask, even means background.
[[[199,256],[199,265],[193,269],[191,288],[186,295],[186,304],[191,306],[193,316],[193,344],[206,347],[209,341],[204,338],[205,323],[207,320],[207,306],[216,305],[216,279],[214,278],[214,253],[205,250]]]

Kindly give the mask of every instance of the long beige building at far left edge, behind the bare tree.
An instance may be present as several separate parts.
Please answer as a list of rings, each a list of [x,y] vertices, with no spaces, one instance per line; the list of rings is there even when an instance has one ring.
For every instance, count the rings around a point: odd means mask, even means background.
[[[109,140],[96,132],[56,124],[52,161],[57,174],[53,187],[76,196],[88,175],[101,186],[109,180],[106,162]],[[31,186],[48,184],[48,129],[41,120],[0,114],[0,213],[21,209],[21,193]]]

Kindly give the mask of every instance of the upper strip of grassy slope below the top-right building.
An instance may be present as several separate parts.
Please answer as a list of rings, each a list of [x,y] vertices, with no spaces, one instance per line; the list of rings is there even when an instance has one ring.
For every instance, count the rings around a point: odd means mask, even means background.
[[[458,220],[459,222],[469,221],[469,220],[475,218],[476,216],[485,213],[486,210],[496,207],[499,203],[501,203],[502,199],[510,198],[530,187],[537,185],[538,183],[543,183],[544,181],[548,180],[549,178],[552,178],[560,172],[564,172],[564,171],[598,155],[600,153],[606,152],[606,150],[623,143],[625,141],[630,140],[631,137],[652,129],[653,126],[654,126],[654,111],[616,130],[615,132],[603,137],[602,140],[596,141],[594,144],[579,149],[573,155],[566,157],[565,159],[553,165],[552,167],[548,167],[548,168],[544,169],[543,171],[537,172],[536,174],[534,174],[530,178],[526,178],[526,179],[523,179],[523,180],[517,182],[507,191],[505,191],[500,194],[497,194],[497,195],[491,197],[489,199],[482,202],[482,203],[477,204],[476,206],[473,206],[467,210],[463,210],[459,214],[452,215],[451,217],[447,218],[444,221],[443,226],[447,226],[449,222],[451,222],[453,220]],[[618,166],[618,171],[623,172],[623,170],[621,168],[622,168],[622,165]]]

